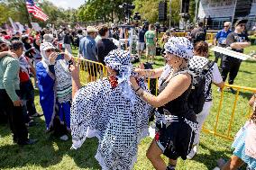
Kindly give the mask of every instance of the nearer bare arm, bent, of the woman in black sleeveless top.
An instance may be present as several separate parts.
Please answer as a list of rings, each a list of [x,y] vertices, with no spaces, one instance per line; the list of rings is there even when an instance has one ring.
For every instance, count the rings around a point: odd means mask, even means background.
[[[144,91],[136,83],[136,80],[133,77],[131,77],[131,83],[135,92],[139,94],[145,102],[150,103],[153,107],[157,108],[169,103],[183,94],[191,84],[191,76],[188,74],[174,76],[170,79],[169,84],[158,96]]]

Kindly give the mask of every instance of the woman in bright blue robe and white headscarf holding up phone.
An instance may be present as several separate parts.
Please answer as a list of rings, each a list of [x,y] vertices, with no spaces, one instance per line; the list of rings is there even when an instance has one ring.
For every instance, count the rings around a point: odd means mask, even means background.
[[[62,140],[69,139],[70,106],[72,99],[71,58],[67,54],[59,58],[59,53],[50,42],[41,43],[41,62],[36,65],[36,76],[40,92],[40,103],[47,131]]]

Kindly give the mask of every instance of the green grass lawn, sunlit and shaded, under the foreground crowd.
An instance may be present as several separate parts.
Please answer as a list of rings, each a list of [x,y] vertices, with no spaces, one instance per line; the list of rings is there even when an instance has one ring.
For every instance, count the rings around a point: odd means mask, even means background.
[[[251,46],[245,50],[245,53],[250,53],[251,50],[256,50],[256,46]],[[212,53],[211,53],[212,54]],[[210,57],[214,59],[213,57]],[[163,66],[163,58],[156,58],[154,67]],[[235,79],[235,85],[255,87],[256,84],[256,62],[243,61],[240,72]],[[211,113],[206,121],[206,129],[213,130],[215,123],[215,115],[218,109],[220,93],[213,87],[214,105]],[[224,103],[220,114],[218,132],[226,133],[228,122],[231,118],[233,109],[234,94],[224,91]],[[233,128],[231,134],[234,135],[239,130],[247,119],[249,108],[248,100],[251,97],[251,92],[242,91],[239,95],[239,102],[235,109]],[[41,112],[39,103],[39,94],[36,91],[35,103],[37,110]],[[71,139],[69,141],[60,141],[45,134],[44,119],[36,118],[38,125],[29,128],[32,139],[39,139],[39,142],[33,146],[19,147],[12,141],[12,136],[7,125],[0,125],[0,169],[100,169],[96,162],[96,139],[87,139],[81,148],[78,150],[70,150]],[[198,148],[197,156],[193,160],[178,159],[178,170],[206,170],[213,169],[216,165],[216,160],[219,157],[228,158],[232,155],[231,140],[215,137],[211,134],[202,133],[201,141]],[[151,143],[150,138],[142,140],[138,152],[138,161],[134,166],[136,170],[153,169],[150,161],[145,157],[146,150]],[[166,159],[167,160],[167,159]]]

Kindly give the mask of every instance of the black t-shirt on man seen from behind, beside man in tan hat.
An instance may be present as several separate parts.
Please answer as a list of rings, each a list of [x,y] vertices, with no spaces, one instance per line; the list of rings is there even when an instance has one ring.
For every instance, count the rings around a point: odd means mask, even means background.
[[[97,41],[96,49],[97,49],[98,61],[105,65],[105,62],[104,62],[105,57],[108,55],[108,53],[111,50],[117,49],[117,47],[114,45],[114,42],[112,40],[101,39]]]

